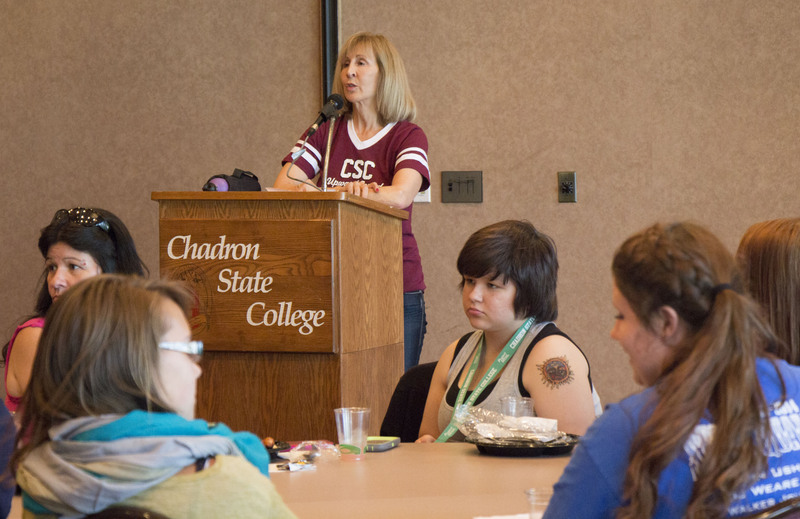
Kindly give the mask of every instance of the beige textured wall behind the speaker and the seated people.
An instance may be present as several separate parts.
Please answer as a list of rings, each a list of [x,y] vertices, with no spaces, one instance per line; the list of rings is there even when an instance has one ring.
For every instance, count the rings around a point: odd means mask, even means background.
[[[157,270],[151,191],[234,167],[271,184],[321,98],[317,2],[2,2],[0,330],[32,307],[38,229],[59,207],[126,222]],[[423,360],[468,330],[455,257],[475,229],[524,218],[561,261],[559,324],[601,396],[636,390],[608,338],[614,248],[693,219],[731,249],[798,214],[800,4],[745,0],[340,0],[344,37],[386,34],[430,141],[415,208],[428,290]],[[442,170],[483,171],[484,202],[441,204]],[[556,172],[578,172],[578,203]]]

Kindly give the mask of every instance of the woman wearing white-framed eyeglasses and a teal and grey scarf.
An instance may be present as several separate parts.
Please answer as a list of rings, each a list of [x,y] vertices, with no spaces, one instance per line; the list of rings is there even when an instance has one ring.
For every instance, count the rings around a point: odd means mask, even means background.
[[[26,517],[117,505],[172,519],[294,517],[257,436],[194,419],[202,344],[191,340],[192,301],[175,282],[118,275],[58,298],[11,461]]]

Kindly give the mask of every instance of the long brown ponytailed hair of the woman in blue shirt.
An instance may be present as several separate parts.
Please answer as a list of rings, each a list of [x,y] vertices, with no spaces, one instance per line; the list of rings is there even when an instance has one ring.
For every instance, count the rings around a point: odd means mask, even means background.
[[[669,306],[688,331],[654,384],[658,399],[632,442],[626,504],[617,517],[652,517],[661,472],[707,413],[715,432],[697,469],[686,517],[724,517],[734,492],[767,467],[769,409],[756,358],[774,336],[758,306],[736,291],[741,279],[733,256],[698,225],[645,229],[620,246],[612,270],[642,323],[649,326]]]

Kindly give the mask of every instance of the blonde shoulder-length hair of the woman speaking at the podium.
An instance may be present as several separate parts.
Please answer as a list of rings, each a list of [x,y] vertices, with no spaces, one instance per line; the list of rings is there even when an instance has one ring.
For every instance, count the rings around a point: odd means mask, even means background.
[[[358,47],[371,49],[378,64],[380,79],[376,93],[378,103],[378,119],[382,125],[392,122],[414,122],[417,117],[417,105],[411,95],[408,76],[403,59],[392,43],[382,34],[358,32],[339,50],[336,60],[336,74],[333,78],[332,91],[344,97],[342,84],[342,67],[347,54]],[[353,107],[345,99],[345,111],[351,112]]]

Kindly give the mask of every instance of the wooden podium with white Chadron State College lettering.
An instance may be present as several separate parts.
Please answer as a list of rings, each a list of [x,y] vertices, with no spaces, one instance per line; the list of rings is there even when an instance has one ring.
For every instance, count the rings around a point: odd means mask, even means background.
[[[155,192],[161,276],[197,294],[197,417],[336,441],[333,410],[378,434],[403,373],[405,211],[339,192]]]

